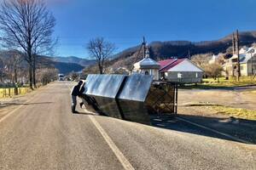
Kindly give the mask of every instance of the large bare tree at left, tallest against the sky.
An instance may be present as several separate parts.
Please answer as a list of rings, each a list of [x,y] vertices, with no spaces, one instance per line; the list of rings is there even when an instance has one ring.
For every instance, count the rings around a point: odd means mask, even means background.
[[[36,56],[53,48],[55,17],[44,0],[3,0],[0,31],[3,45],[25,53],[29,65],[29,83],[36,87]]]

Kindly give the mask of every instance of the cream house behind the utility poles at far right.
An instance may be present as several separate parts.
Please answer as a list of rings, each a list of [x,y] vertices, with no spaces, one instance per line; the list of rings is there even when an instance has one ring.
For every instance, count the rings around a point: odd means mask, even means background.
[[[241,48],[239,50],[241,76],[253,76],[256,74],[256,48]],[[235,77],[237,75],[237,54],[226,59],[223,65],[224,76]]]

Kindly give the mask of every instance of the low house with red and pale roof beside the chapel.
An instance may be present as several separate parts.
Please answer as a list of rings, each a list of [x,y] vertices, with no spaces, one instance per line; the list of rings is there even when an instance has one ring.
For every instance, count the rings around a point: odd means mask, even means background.
[[[201,82],[204,71],[189,59],[166,59],[159,61],[161,79],[170,82]]]

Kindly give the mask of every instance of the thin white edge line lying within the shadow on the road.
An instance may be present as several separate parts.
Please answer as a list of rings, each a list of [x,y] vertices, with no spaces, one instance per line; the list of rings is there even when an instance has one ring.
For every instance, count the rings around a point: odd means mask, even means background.
[[[245,144],[253,144],[253,143],[251,143],[251,142],[248,142],[247,140],[238,139],[238,138],[236,138],[236,137],[234,137],[234,136],[231,136],[230,134],[218,132],[217,130],[214,130],[214,129],[210,128],[210,127],[205,127],[205,126],[200,125],[200,124],[197,124],[197,123],[195,123],[195,122],[190,122],[190,121],[188,121],[188,120],[186,120],[186,119],[183,119],[183,118],[181,118],[181,117],[176,117],[176,119],[177,119],[177,120],[180,120],[180,121],[183,121],[183,122],[188,122],[188,123],[190,123],[190,124],[192,124],[192,125],[194,125],[194,126],[196,126],[196,127],[201,127],[201,128],[207,129],[208,131],[211,131],[212,133],[218,133],[218,134],[220,134],[220,135],[223,135],[223,136],[225,136],[225,137],[228,137],[228,138],[230,138],[230,139],[234,139],[234,140],[236,140],[236,141],[239,141],[239,142],[242,142],[242,143],[245,143]]]

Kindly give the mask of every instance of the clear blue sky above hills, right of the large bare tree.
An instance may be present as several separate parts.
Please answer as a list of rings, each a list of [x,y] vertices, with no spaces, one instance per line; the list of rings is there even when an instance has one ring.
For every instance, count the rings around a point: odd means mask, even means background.
[[[256,30],[256,0],[48,0],[57,56],[88,58],[86,43],[105,37],[119,51],[142,42],[216,40]]]

